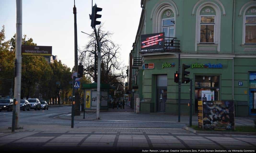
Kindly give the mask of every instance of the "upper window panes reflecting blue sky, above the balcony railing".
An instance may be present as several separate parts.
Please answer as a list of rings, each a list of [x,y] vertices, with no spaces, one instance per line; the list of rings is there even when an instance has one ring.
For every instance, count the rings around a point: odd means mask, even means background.
[[[164,37],[174,37],[174,18],[162,20]]]

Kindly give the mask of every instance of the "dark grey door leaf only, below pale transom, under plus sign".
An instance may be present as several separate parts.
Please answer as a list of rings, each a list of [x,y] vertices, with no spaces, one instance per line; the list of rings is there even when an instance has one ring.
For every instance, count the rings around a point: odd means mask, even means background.
[[[167,89],[157,88],[157,112],[165,112],[165,102],[167,99]]]

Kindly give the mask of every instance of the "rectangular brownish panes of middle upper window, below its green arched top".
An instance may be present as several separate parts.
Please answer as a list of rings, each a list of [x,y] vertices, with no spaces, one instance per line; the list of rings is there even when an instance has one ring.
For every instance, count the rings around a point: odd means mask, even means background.
[[[215,16],[200,16],[200,43],[214,43]]]

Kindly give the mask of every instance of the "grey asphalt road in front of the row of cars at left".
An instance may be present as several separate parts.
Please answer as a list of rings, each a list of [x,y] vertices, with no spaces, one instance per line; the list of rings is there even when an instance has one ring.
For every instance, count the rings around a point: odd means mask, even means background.
[[[71,120],[54,119],[51,116],[61,115],[71,112],[71,106],[49,107],[48,110],[20,111],[19,125],[71,125]],[[0,126],[12,126],[13,112],[0,112]],[[77,124],[78,121],[74,121]]]

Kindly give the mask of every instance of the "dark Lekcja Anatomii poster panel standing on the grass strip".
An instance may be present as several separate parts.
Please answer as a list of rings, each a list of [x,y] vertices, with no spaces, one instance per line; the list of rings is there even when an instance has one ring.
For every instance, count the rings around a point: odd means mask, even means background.
[[[234,130],[233,101],[202,101],[204,130]]]

